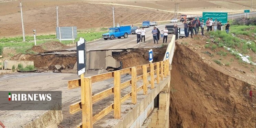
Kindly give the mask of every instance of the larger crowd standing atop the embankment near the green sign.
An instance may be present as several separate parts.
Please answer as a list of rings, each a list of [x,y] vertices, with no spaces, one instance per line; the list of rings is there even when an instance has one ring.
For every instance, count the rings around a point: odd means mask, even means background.
[[[199,32],[199,27],[201,28],[201,35],[204,35],[204,19],[202,19],[202,22],[200,22],[199,17],[197,17],[196,20],[195,18],[193,18],[189,23],[187,23],[187,20],[185,19],[184,22],[182,23],[184,24],[185,38],[188,38],[189,33],[191,35],[191,38],[193,38],[193,31],[195,31],[195,34],[197,35]],[[217,19],[213,21],[212,18],[208,18],[208,20],[205,22],[205,25],[207,27],[207,32],[212,31],[212,26],[214,27],[214,31],[222,30],[222,24],[219,21],[217,21]],[[225,30],[226,33],[229,33],[229,22],[225,24]]]

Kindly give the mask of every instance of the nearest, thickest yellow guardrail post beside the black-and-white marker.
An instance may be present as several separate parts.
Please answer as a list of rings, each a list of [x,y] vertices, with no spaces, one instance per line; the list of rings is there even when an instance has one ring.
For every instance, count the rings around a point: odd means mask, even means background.
[[[85,126],[85,128],[92,128],[91,77],[85,78],[85,104],[82,104],[82,114],[83,114],[83,126]],[[84,118],[84,116],[85,116],[85,118]]]

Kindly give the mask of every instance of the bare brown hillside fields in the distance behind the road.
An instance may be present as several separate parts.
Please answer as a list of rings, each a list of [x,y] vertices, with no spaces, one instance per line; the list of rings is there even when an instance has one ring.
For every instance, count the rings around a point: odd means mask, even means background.
[[[0,2],[0,37],[22,35],[20,1]],[[166,21],[174,17],[176,0],[22,0],[25,34],[54,34],[56,28],[56,6],[59,6],[59,26],[77,26],[78,30],[111,27],[112,6],[114,5],[115,23],[131,25],[144,20]],[[232,12],[246,5],[251,9],[249,0],[179,0],[180,14],[202,14],[203,11]],[[108,3],[92,4],[92,3]],[[256,3],[255,3],[256,4]],[[141,8],[146,7],[146,8]],[[161,11],[165,10],[165,11]],[[166,12],[169,11],[169,12]],[[239,10],[234,11],[236,13]]]

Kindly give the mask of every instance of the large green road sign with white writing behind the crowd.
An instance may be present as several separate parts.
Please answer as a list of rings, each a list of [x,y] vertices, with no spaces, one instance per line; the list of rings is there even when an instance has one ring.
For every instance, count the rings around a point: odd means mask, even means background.
[[[204,19],[204,23],[208,18],[212,18],[214,21],[217,19],[217,21],[220,21],[222,24],[227,23],[227,12],[203,12],[202,17],[199,17],[200,20]]]

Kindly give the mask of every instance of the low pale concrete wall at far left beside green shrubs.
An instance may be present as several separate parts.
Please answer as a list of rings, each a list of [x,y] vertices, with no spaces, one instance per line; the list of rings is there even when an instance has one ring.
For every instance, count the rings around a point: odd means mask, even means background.
[[[28,65],[34,65],[34,61],[5,60],[4,61],[4,69],[11,70],[13,65],[15,66],[15,68],[17,68],[19,63],[22,64],[23,67],[26,67]]]

